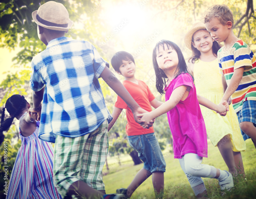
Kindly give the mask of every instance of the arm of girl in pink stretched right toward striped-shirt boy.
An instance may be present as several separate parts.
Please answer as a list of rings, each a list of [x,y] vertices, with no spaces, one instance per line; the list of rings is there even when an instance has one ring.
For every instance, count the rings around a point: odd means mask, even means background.
[[[202,106],[205,106],[208,109],[216,111],[217,113],[219,113],[222,116],[225,116],[227,114],[227,111],[229,110],[228,103],[225,103],[225,105],[223,105],[223,104],[217,105],[203,96],[200,96],[198,94],[196,96],[197,96],[199,104],[201,104]]]

